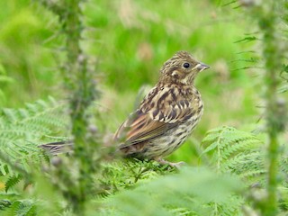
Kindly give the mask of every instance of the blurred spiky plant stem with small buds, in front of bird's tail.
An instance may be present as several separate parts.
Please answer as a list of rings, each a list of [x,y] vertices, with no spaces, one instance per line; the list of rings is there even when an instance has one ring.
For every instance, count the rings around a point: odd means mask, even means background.
[[[87,69],[87,58],[80,46],[83,25],[81,22],[80,4],[85,0],[64,0],[54,3],[41,0],[55,14],[58,14],[62,31],[66,37],[67,61],[64,67],[65,85],[70,98],[71,130],[74,138],[74,157],[76,166],[66,167],[78,173],[75,183],[67,170],[59,170],[59,181],[70,182],[68,191],[62,191],[67,202],[72,205],[76,215],[85,215],[85,202],[92,188],[92,174],[95,170],[91,140],[88,140],[87,110],[95,98],[95,86],[91,72]],[[71,164],[70,164],[71,165]],[[75,164],[74,164],[75,165]],[[65,168],[65,167],[63,167]],[[64,172],[65,171],[65,172]],[[62,175],[61,175],[62,173]]]

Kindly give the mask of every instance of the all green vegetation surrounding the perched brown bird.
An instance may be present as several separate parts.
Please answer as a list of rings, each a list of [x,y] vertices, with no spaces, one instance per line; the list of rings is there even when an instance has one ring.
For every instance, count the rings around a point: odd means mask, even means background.
[[[284,0],[0,6],[1,215],[288,213]],[[196,80],[202,121],[167,157],[186,166],[112,157],[177,50],[211,66]],[[72,155],[38,148],[71,138]]]

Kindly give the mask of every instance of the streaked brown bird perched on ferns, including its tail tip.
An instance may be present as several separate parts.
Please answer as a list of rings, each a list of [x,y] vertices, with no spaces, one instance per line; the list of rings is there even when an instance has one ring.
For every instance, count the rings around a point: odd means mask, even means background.
[[[122,157],[156,160],[176,167],[181,164],[168,162],[164,157],[184,143],[202,118],[202,97],[194,80],[208,68],[184,50],[166,60],[157,84],[113,136]],[[72,145],[71,141],[60,141],[40,147],[58,154],[67,152]]]

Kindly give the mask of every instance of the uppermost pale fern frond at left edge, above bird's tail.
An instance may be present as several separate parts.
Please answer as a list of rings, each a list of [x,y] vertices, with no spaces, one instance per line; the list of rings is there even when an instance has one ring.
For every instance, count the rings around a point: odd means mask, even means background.
[[[0,137],[38,138],[55,132],[65,126],[63,112],[59,112],[61,109],[64,109],[63,104],[57,104],[53,99],[28,103],[24,109],[4,108],[0,111]]]

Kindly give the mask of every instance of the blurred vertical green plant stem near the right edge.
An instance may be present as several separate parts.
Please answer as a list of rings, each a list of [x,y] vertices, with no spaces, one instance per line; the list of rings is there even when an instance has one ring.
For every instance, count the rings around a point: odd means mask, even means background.
[[[281,50],[277,39],[276,28],[276,2],[266,1],[262,5],[259,18],[259,27],[263,32],[263,57],[265,58],[265,84],[266,84],[266,129],[268,136],[267,149],[267,200],[262,210],[263,215],[277,215],[277,174],[278,174],[278,135],[281,132],[279,123],[279,107],[277,99],[277,86],[279,84],[278,72],[281,70]]]

